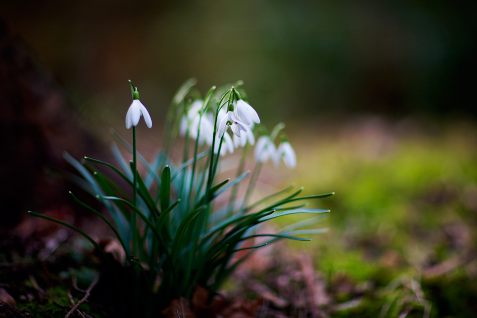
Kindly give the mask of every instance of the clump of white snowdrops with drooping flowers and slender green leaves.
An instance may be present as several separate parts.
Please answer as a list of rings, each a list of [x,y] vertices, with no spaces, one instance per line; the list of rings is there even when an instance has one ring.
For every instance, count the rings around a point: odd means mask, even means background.
[[[127,163],[115,145],[112,146],[112,152],[118,167],[87,157],[84,161],[78,162],[69,154],[64,154],[65,159],[82,176],[82,178],[76,175],[68,177],[74,179],[105,205],[114,224],[70,192],[73,199],[91,210],[111,228],[126,255],[130,256],[124,265],[131,270],[122,271],[123,274],[118,273],[100,246],[80,229],[30,212],[36,217],[67,226],[88,239],[102,253],[104,261],[110,265],[111,273],[115,275],[116,286],[111,288],[123,290],[128,286],[127,289],[132,290],[134,294],[132,307],[136,316],[153,316],[174,299],[180,297],[190,299],[196,286],[205,287],[210,292],[211,298],[236,267],[260,247],[280,239],[310,241],[297,235],[324,231],[324,229],[300,229],[319,222],[322,220],[320,217],[287,226],[276,233],[257,234],[257,229],[262,223],[291,214],[329,212],[323,209],[303,208],[306,203],[288,204],[333,194],[299,196],[303,188],[293,190],[294,185],[249,204],[260,169],[268,158],[277,164],[283,156],[285,164],[295,165],[293,149],[284,136],[278,150],[274,145],[274,140],[284,128],[283,124],[277,125],[270,134],[264,134],[257,142],[256,167],[245,197],[237,198],[237,187],[247,180],[246,177],[250,173],[243,171],[247,152],[255,143],[255,135],[259,132],[264,133],[264,129],[246,125],[247,118],[239,112],[239,105],[243,107],[241,112],[250,110],[247,108],[250,105],[246,103],[247,94],[242,88],[237,88],[242,82],[218,89],[212,87],[205,98],[200,100],[199,108],[197,108],[198,100],[194,98],[197,93],[190,93],[194,84],[194,79],[188,80],[173,98],[166,117],[163,150],[151,163],[136,151],[136,125],[140,117],[145,117],[150,128],[152,122],[144,105],[139,101],[137,88],[132,83],[133,103],[126,121],[127,126],[133,126],[133,145],[128,144],[114,131],[112,135],[126,150],[133,153],[133,161]],[[196,113],[195,117],[190,119],[193,107],[196,108]],[[225,110],[228,110],[227,115],[224,115]],[[254,117],[254,121],[256,118],[258,115]],[[209,131],[201,124],[207,120],[213,125],[213,129]],[[229,152],[233,151],[233,144],[230,148],[231,137],[226,132],[228,127],[235,134],[234,138],[241,137],[241,131],[245,134],[250,130],[255,134],[252,133],[250,136],[249,133],[248,143],[241,141],[235,143],[235,146],[245,144],[236,176],[232,181],[230,178],[220,181],[217,179],[221,164],[219,158],[224,154],[222,146],[226,146]],[[184,129],[183,160],[181,164],[174,164],[170,156],[179,131]],[[200,134],[205,136],[202,137]],[[191,158],[189,158],[190,145],[193,146]],[[137,161],[147,171],[144,177],[137,171]],[[99,167],[112,170],[132,187],[132,191],[130,188],[122,188]],[[227,190],[232,192],[229,203],[218,206],[217,198],[223,196]],[[133,197],[130,196],[131,192]],[[259,237],[268,237],[269,240],[257,245],[246,245],[247,242],[254,242]],[[125,278],[124,273],[129,277]],[[121,297],[126,299],[127,296],[123,293]]]

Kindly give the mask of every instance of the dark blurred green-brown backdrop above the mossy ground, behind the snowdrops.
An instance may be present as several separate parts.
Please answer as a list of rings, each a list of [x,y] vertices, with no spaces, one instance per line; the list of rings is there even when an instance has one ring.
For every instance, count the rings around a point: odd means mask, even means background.
[[[242,79],[275,122],[476,114],[476,9],[472,1],[20,0],[4,2],[0,16],[78,107],[97,107],[91,99],[101,95],[123,113],[131,79],[163,115],[189,77],[201,91]]]

